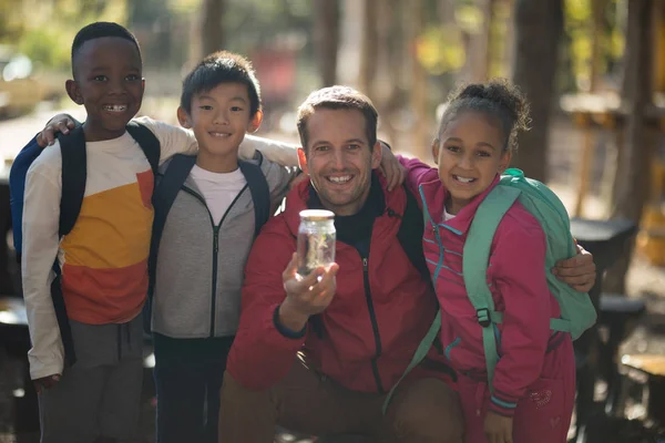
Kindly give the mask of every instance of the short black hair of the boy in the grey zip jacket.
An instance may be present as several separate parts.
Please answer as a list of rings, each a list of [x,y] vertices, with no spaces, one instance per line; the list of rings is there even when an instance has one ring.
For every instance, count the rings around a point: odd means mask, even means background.
[[[208,92],[222,83],[242,83],[249,95],[249,116],[260,110],[260,86],[252,62],[243,55],[219,51],[207,55],[183,80],[181,107],[187,114],[192,112],[192,99],[195,94]]]

